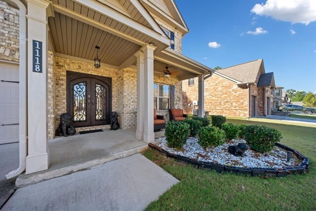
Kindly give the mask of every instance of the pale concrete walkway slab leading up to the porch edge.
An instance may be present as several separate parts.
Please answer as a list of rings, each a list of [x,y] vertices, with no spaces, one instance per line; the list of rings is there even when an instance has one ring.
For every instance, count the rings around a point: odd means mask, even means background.
[[[20,188],[2,210],[141,211],[177,182],[136,154]]]

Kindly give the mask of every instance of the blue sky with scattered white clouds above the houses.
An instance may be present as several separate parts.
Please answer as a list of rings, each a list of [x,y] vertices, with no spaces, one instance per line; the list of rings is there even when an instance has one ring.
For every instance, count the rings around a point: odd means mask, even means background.
[[[175,0],[182,53],[214,68],[262,58],[276,85],[316,93],[316,0]]]

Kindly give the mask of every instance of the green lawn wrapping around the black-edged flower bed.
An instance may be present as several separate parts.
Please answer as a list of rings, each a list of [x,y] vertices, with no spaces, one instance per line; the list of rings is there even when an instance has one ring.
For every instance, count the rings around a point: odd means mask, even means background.
[[[237,119],[227,122],[275,127],[282,133],[282,143],[310,159],[310,171],[276,178],[217,173],[166,159],[150,149],[144,155],[180,182],[147,210],[316,210],[315,127]]]

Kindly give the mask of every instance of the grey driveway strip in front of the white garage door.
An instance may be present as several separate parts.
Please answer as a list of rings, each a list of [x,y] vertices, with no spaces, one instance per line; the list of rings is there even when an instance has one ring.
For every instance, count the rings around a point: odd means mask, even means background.
[[[6,179],[5,174],[19,167],[19,143],[0,145],[0,208],[12,195],[15,179]]]

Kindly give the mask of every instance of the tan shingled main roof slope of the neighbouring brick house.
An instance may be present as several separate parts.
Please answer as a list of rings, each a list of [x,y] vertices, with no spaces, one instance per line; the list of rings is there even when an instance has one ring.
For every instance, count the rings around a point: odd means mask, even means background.
[[[215,73],[220,73],[241,83],[255,83],[259,71],[261,72],[260,74],[265,73],[263,59],[216,70]]]

